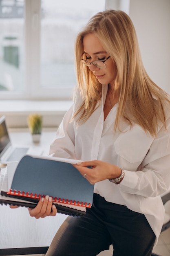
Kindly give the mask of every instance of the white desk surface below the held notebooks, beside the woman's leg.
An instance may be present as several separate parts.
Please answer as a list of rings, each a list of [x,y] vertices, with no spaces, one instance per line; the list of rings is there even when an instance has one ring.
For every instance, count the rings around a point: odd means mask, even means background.
[[[25,207],[0,205],[0,249],[48,247],[65,219],[66,215],[60,213],[35,219]]]

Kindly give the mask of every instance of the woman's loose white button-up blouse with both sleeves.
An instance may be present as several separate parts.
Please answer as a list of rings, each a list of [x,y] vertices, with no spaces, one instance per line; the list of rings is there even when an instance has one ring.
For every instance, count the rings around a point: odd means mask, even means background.
[[[103,180],[95,184],[94,192],[108,202],[126,205],[132,211],[144,213],[157,239],[161,232],[164,207],[160,195],[170,187],[170,112],[167,130],[160,126],[157,136],[146,134],[137,124],[121,122],[121,131],[114,134],[117,104],[104,121],[104,102],[108,90],[102,85],[99,107],[82,125],[76,126],[71,117],[82,98],[75,103],[60,124],[50,147],[53,157],[81,160],[99,159],[124,169],[120,184]],[[155,245],[157,243],[155,241]]]

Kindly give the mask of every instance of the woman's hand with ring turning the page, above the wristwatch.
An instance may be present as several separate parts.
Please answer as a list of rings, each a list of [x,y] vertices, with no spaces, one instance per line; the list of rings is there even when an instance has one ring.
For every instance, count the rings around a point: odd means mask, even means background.
[[[109,164],[99,160],[85,161],[77,164],[73,164],[75,168],[91,183],[114,179],[121,175],[121,169],[113,164]],[[87,166],[91,166],[88,168]]]

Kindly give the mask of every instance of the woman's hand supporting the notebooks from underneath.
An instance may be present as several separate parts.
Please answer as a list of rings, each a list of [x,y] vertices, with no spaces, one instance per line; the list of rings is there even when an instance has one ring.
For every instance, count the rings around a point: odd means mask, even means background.
[[[57,209],[55,205],[53,205],[52,198],[49,197],[49,195],[42,198],[35,208],[28,209],[30,216],[35,217],[36,219],[44,218],[46,216],[55,216],[57,213]]]

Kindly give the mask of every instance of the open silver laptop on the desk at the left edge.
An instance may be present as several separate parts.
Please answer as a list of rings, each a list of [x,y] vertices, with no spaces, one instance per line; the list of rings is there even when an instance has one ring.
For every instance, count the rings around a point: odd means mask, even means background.
[[[41,155],[42,148],[37,146],[12,145],[5,116],[0,117],[0,163],[18,162],[25,154]]]

